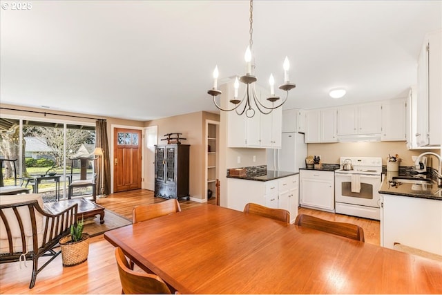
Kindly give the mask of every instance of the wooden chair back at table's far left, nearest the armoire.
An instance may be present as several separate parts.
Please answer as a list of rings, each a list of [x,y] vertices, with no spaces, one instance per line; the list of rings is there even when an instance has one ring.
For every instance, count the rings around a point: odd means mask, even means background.
[[[152,218],[181,212],[180,203],[177,199],[169,199],[154,204],[135,206],[132,210],[132,223],[142,222]]]

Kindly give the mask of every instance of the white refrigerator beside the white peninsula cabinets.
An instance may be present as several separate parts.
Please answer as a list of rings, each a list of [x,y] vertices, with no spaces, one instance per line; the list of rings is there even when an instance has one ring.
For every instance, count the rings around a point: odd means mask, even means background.
[[[282,133],[281,149],[267,149],[267,169],[299,172],[305,168],[307,144],[302,133]]]

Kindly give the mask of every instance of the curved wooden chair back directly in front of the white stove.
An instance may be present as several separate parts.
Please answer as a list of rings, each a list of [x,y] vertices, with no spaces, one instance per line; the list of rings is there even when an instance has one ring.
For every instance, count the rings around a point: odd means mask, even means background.
[[[310,216],[307,214],[299,214],[296,216],[295,225],[300,227],[309,227],[319,231],[325,231],[329,234],[343,236],[345,238],[352,238],[353,240],[360,240],[364,242],[364,230],[358,225],[353,225],[347,222],[335,222]]]

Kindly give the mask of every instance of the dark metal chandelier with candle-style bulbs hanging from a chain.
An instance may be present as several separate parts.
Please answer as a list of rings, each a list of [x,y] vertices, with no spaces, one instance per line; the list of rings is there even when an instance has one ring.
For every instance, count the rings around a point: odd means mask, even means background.
[[[256,79],[255,76],[255,65],[251,64],[251,49],[252,49],[252,44],[253,44],[253,38],[252,38],[252,34],[253,34],[253,0],[250,0],[250,29],[249,29],[249,35],[250,35],[250,39],[249,39],[249,46],[247,46],[247,50],[246,53],[244,55],[244,59],[246,61],[246,75],[241,76],[240,79],[238,80],[238,76],[235,79],[235,83],[233,84],[233,87],[235,88],[235,92],[233,95],[233,99],[230,99],[229,102],[231,102],[231,104],[234,104],[233,108],[222,108],[217,102],[216,102],[216,97],[220,94],[222,94],[221,91],[218,90],[218,66],[215,66],[215,70],[213,70],[213,88],[210,89],[209,91],[207,91],[207,93],[209,93],[209,95],[212,95],[213,97],[213,104],[215,104],[215,106],[220,109],[220,111],[225,111],[225,112],[229,112],[229,111],[236,111],[236,113],[238,115],[242,115],[245,113],[245,115],[247,117],[253,117],[255,115],[255,110],[252,107],[252,102],[254,102],[256,108],[258,109],[258,111],[260,111],[260,113],[262,114],[269,114],[271,113],[271,111],[273,111],[275,108],[279,108],[280,106],[282,106],[282,104],[284,104],[287,101],[287,97],[289,97],[289,91],[293,88],[296,87],[295,84],[292,84],[289,82],[289,68],[290,68],[290,64],[289,64],[289,59],[287,57],[285,57],[284,60],[284,64],[283,64],[283,68],[284,68],[284,84],[282,84],[281,86],[279,86],[279,88],[282,91],[286,92],[285,95],[285,99],[282,100],[282,102],[278,105],[275,106],[275,102],[277,102],[280,97],[275,95],[275,91],[274,91],[274,84],[275,84],[275,79],[273,78],[273,75],[270,74],[270,78],[269,78],[269,84],[270,84],[270,97],[267,97],[267,100],[269,102],[271,102],[271,106],[269,106],[269,104],[264,105],[260,102],[260,98],[258,98],[258,96],[256,95],[256,89],[255,89],[255,82],[258,80]],[[238,88],[240,86],[240,83],[242,82],[244,84],[246,84],[246,91],[244,92],[244,96],[242,97],[242,99],[238,99]]]

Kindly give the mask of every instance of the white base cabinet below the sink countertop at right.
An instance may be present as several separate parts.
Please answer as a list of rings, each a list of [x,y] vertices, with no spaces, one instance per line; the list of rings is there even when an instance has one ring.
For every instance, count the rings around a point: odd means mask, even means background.
[[[382,195],[381,246],[394,243],[442,255],[442,201]]]

